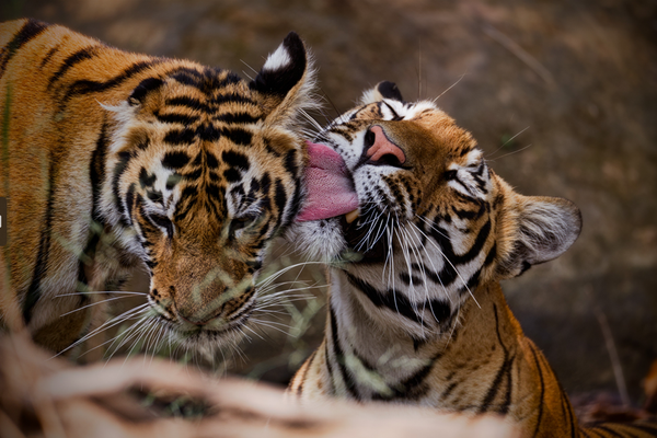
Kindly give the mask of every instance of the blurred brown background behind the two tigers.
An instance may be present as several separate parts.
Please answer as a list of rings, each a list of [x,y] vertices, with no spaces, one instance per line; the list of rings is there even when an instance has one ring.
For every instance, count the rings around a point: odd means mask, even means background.
[[[520,193],[581,209],[581,237],[565,255],[503,284],[526,334],[572,394],[618,396],[622,376],[641,403],[657,359],[657,1],[4,0],[0,9],[2,20],[33,16],[246,74],[293,30],[312,48],[328,117],[381,80],[410,101],[440,96]],[[311,267],[303,278],[323,284]],[[322,290],[306,293],[318,298],[255,328],[264,339],[232,354],[232,372],[290,378],[323,330]]]

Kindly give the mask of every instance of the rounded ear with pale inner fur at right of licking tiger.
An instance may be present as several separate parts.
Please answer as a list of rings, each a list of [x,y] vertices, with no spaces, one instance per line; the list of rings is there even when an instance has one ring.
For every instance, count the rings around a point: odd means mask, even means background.
[[[502,278],[558,257],[581,231],[579,208],[567,199],[514,193],[505,204],[497,227],[504,247],[497,266]]]

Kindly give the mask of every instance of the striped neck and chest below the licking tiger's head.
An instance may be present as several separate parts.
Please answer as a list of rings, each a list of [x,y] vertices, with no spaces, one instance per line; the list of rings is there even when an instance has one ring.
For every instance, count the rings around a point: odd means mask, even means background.
[[[518,419],[528,430],[546,419],[557,429],[575,427],[565,393],[542,353],[522,333],[498,283],[472,291],[476,302],[470,299],[460,309],[453,332],[423,343],[371,318],[360,302],[364,292],[344,272],[331,269],[331,285],[325,342],[327,360],[342,368],[333,371],[342,378],[332,379],[338,395],[495,412]],[[338,356],[343,359],[335,360]],[[546,400],[545,388],[560,396]]]

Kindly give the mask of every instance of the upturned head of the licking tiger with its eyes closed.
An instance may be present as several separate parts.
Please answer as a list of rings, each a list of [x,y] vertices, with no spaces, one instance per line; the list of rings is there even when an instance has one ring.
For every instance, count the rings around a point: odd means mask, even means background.
[[[552,260],[579,234],[570,201],[514,192],[468,131],[433,102],[404,102],[391,82],[367,91],[314,142],[344,161],[351,185],[333,198],[353,191],[357,209],[322,218],[309,184],[290,240],[423,325],[439,330],[479,285]]]

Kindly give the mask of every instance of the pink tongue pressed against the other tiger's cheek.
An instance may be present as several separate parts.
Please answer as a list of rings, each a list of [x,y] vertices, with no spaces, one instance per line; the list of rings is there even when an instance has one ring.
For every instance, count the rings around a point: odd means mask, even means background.
[[[306,143],[310,155],[310,165],[306,170],[308,194],[297,220],[333,218],[357,209],[358,195],[339,153],[324,145]]]

